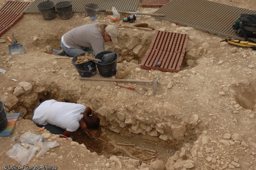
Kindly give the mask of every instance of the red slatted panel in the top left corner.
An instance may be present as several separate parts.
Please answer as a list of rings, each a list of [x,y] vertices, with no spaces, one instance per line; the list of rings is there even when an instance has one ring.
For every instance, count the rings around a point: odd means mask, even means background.
[[[23,17],[23,11],[28,8],[30,4],[30,2],[7,1],[0,8],[0,36]]]

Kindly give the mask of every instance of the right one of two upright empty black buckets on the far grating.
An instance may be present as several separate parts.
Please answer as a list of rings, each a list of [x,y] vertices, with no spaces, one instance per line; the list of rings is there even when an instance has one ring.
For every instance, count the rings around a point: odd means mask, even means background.
[[[72,17],[72,2],[63,1],[55,4],[60,19],[70,19]]]

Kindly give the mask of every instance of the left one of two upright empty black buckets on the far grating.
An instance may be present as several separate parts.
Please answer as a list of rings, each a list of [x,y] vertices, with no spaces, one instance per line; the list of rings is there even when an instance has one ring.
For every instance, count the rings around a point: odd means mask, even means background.
[[[37,9],[40,11],[45,20],[52,20],[55,18],[55,2],[44,1],[37,4]]]

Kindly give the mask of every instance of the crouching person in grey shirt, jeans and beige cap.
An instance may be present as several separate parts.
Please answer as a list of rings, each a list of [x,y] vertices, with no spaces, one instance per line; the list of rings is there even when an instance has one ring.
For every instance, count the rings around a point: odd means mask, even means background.
[[[56,55],[75,57],[85,52],[97,52],[104,50],[104,43],[112,41],[117,43],[118,31],[115,26],[93,23],[76,27],[62,36],[60,46],[62,50]]]

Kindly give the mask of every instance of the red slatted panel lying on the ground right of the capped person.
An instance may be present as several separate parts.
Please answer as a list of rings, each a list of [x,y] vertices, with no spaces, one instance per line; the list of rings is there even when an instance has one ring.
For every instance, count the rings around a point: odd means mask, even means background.
[[[188,37],[188,34],[157,30],[140,67],[147,70],[180,71]]]

